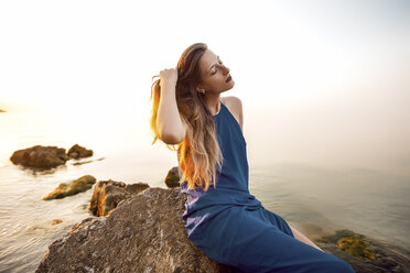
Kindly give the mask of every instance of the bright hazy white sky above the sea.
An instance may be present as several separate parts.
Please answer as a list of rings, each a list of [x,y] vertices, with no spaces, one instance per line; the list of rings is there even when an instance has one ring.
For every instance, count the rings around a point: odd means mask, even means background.
[[[147,120],[151,77],[204,42],[230,68],[223,96],[242,100],[250,142],[406,170],[409,33],[409,1],[1,1],[0,109]]]

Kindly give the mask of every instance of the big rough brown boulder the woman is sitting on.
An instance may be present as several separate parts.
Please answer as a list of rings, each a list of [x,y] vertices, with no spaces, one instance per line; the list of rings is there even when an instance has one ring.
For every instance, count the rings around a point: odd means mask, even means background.
[[[230,272],[187,238],[179,188],[148,188],[105,217],[77,223],[48,247],[36,272]]]

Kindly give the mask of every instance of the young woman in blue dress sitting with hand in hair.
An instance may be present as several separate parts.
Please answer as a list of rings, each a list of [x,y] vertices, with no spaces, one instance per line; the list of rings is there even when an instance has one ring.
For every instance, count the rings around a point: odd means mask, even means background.
[[[234,85],[220,57],[195,43],[151,87],[153,143],[177,151],[190,240],[236,272],[354,272],[249,193],[241,101],[220,97]]]

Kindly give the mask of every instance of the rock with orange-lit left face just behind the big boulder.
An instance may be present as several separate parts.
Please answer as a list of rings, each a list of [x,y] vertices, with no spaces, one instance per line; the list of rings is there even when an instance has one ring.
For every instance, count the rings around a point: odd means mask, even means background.
[[[126,184],[116,181],[99,181],[94,187],[88,209],[95,216],[105,216],[127,198],[138,195],[150,186],[147,183]]]

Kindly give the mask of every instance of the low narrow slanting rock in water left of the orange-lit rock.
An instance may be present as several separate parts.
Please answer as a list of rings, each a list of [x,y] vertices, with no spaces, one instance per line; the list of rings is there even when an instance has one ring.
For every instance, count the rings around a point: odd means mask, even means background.
[[[90,189],[96,183],[96,178],[91,175],[84,175],[72,183],[62,183],[47,196],[43,197],[43,200],[61,199],[66,196],[76,195],[78,193]]]

